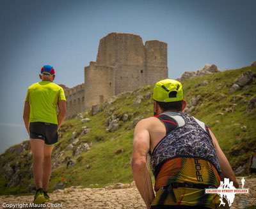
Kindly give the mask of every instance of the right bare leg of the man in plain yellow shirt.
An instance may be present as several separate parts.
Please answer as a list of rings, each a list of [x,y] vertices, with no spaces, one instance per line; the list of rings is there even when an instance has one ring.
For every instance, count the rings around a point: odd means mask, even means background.
[[[44,173],[43,173],[43,190],[47,191],[49,180],[51,178],[52,164],[51,164],[51,155],[52,155],[53,146],[44,145]]]

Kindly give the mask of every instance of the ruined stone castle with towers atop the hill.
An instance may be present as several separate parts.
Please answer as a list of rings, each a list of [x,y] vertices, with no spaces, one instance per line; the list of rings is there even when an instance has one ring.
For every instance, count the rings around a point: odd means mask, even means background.
[[[140,36],[110,33],[100,40],[97,61],[84,68],[84,83],[65,87],[67,117],[103,103],[111,96],[152,85],[168,77],[167,44]]]

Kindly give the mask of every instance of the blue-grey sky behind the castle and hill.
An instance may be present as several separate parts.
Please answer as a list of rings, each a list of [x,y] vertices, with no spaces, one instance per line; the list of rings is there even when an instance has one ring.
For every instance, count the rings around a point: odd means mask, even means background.
[[[168,44],[168,75],[206,63],[234,69],[256,61],[256,1],[0,0],[0,152],[28,138],[22,124],[27,87],[44,64],[56,83],[83,82],[99,40],[109,32]]]

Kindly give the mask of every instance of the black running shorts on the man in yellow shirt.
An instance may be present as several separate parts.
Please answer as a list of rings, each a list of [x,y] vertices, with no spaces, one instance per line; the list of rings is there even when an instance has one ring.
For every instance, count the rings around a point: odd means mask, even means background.
[[[44,140],[46,145],[53,145],[58,142],[58,125],[47,122],[29,123],[29,136],[31,140]]]

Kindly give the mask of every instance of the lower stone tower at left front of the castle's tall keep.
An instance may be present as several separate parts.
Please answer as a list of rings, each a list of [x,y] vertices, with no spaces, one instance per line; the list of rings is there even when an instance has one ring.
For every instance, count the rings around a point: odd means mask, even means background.
[[[84,68],[85,108],[103,103],[114,95],[114,72],[113,67],[97,65],[95,62],[90,62],[90,66]]]

